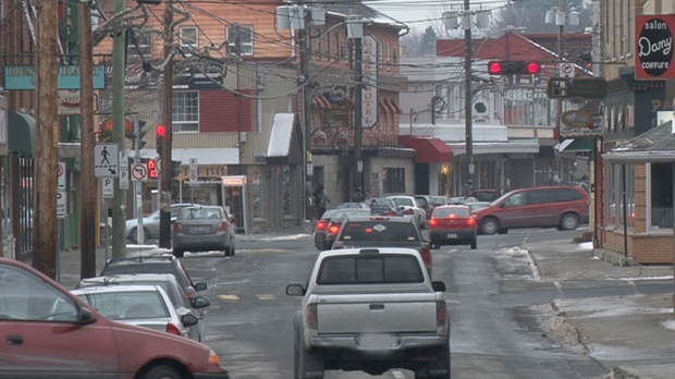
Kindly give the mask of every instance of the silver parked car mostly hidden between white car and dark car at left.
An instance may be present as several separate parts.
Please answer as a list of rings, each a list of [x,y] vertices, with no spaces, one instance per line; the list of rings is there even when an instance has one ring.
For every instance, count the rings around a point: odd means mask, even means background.
[[[191,328],[191,338],[201,342],[205,334],[204,311],[210,302],[202,296],[187,296],[177,279],[171,273],[128,273],[110,277],[86,278],[79,281],[75,289],[89,286],[118,286],[118,285],[159,285],[167,292],[171,303],[176,309],[188,309],[197,316],[198,323]],[[182,311],[182,310],[181,310]]]

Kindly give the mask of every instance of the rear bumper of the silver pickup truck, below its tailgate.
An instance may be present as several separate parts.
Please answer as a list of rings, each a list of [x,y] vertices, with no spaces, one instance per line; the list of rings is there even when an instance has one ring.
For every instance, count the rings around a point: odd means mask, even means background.
[[[312,335],[309,345],[322,349],[345,349],[356,352],[405,351],[440,346],[447,343],[447,335],[385,335],[376,343],[365,343],[361,334]]]

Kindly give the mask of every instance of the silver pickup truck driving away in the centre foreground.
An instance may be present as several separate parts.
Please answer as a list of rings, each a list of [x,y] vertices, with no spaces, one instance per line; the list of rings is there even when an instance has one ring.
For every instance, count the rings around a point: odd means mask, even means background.
[[[442,292],[412,248],[321,252],[309,280],[290,284],[303,296],[293,318],[294,378],[326,370],[450,378],[450,319]]]

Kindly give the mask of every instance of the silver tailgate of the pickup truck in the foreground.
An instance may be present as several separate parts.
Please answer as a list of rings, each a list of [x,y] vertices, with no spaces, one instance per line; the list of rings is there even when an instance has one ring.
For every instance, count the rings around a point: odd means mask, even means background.
[[[435,332],[434,294],[319,295],[318,333]]]

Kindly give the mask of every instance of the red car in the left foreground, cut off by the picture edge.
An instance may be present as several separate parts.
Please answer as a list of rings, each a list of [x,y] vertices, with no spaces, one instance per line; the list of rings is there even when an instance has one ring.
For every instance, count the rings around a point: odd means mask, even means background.
[[[230,378],[208,346],[113,321],[33,267],[0,258],[0,378]]]

